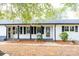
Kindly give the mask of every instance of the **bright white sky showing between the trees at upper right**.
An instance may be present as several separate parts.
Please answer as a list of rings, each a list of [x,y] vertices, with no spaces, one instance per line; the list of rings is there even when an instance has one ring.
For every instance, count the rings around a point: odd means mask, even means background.
[[[64,3],[51,3],[54,8],[62,8]],[[76,12],[72,11],[71,9],[66,9],[65,13],[62,15],[63,19],[79,19],[79,16],[76,16]]]

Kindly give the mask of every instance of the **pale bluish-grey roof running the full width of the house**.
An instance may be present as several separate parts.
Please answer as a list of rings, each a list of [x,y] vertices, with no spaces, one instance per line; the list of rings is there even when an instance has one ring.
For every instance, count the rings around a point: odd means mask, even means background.
[[[31,21],[30,23],[23,23],[20,20],[0,20],[0,24],[79,24],[79,19],[65,19],[65,20],[40,20]]]

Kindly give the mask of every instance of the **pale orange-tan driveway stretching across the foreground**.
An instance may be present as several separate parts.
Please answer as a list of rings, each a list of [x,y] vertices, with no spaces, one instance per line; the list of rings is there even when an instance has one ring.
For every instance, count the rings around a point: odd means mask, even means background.
[[[79,56],[79,45],[26,44],[0,42],[0,50],[10,56]]]

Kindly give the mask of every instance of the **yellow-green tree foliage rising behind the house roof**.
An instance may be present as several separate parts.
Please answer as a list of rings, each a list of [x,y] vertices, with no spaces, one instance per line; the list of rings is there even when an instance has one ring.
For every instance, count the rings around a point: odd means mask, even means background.
[[[50,3],[0,3],[0,19],[14,20],[19,17],[23,22],[29,22],[32,18],[62,19],[68,8],[76,11],[78,6],[76,3],[63,3],[62,8],[54,8]]]

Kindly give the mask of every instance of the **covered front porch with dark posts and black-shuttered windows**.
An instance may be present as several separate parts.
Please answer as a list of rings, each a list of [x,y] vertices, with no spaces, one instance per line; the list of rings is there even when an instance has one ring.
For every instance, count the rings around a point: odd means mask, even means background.
[[[7,40],[37,40],[38,34],[42,40],[55,40],[54,25],[7,25],[6,39]]]

